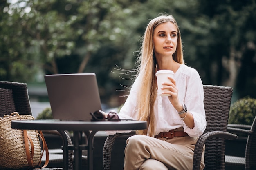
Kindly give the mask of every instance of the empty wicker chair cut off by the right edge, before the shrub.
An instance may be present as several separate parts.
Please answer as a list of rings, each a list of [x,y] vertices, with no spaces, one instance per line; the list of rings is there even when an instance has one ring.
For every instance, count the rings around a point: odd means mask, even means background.
[[[256,170],[256,117],[250,125],[228,124],[228,132],[248,135],[245,147],[245,157],[225,155],[225,165],[234,169]],[[238,135],[238,136],[239,136]]]

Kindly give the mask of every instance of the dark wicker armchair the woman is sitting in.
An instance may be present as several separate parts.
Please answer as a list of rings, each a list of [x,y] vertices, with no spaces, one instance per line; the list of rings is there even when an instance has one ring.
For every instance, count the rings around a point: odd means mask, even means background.
[[[204,170],[225,170],[225,139],[236,139],[227,132],[229,108],[233,90],[231,87],[204,85],[204,107],[207,127],[198,139],[194,151],[193,170],[200,169],[202,149],[205,144]],[[109,135],[103,147],[104,170],[110,170],[111,150],[115,139],[121,135]]]

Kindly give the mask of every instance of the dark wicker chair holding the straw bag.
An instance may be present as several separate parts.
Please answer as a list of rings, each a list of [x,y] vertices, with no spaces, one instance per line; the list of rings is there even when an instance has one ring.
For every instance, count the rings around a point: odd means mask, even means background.
[[[0,81],[0,117],[10,115],[14,111],[17,111],[20,115],[32,115],[27,84]],[[66,132],[56,130],[48,130],[44,133],[59,135],[63,139],[63,154],[55,154],[49,150],[49,164],[63,162],[63,168],[43,168],[42,170],[72,170],[73,153],[68,150],[68,145],[72,144],[72,141],[69,135]]]

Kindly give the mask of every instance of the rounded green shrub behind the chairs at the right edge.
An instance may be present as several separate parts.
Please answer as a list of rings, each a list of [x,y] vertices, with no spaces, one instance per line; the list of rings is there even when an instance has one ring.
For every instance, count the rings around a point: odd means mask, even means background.
[[[231,104],[229,124],[252,125],[256,116],[256,99],[244,97]]]

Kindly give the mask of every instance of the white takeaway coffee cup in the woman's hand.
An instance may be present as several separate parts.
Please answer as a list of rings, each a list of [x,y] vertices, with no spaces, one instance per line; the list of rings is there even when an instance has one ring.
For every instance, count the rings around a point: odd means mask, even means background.
[[[174,73],[171,70],[159,70],[155,73],[157,76],[157,88],[158,88],[158,95],[160,96],[170,96],[169,94],[162,94],[164,91],[168,91],[168,89],[162,90],[161,88],[164,86],[162,83],[164,82],[171,82],[168,77],[174,77]]]

